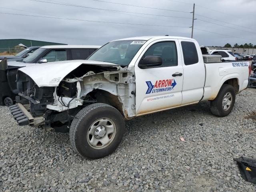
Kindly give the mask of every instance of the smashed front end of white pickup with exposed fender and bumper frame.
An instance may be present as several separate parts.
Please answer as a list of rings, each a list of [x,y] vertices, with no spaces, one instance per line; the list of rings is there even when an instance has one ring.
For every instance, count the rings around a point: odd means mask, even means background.
[[[82,108],[95,102],[114,106],[127,119],[135,116],[135,78],[127,67],[82,64],[64,78],[49,81],[58,82],[42,86],[29,74],[18,72],[18,104],[10,109],[20,125],[68,125]]]

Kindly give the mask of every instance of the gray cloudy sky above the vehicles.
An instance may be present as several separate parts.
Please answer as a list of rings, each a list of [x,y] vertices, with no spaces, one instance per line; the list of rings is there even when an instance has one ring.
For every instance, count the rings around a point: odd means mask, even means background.
[[[5,13],[26,14],[46,17],[58,16],[60,18],[64,17],[80,20],[94,20],[158,26],[106,24],[77,20],[61,20],[52,18],[38,18],[10,14],[0,14],[0,39],[25,38],[67,44],[102,45],[110,40],[132,36],[168,34],[170,36],[190,37],[191,28],[189,27],[192,26],[192,14],[186,12],[192,12],[192,3],[195,3],[195,13],[205,17],[209,17],[205,18],[202,16],[195,15],[195,18],[200,20],[195,20],[194,27],[196,29],[194,30],[194,38],[198,40],[200,45],[223,46],[224,44],[226,44],[226,42],[229,42],[231,45],[234,45],[235,43],[256,44],[254,9],[256,7],[256,0],[183,0],[182,2],[185,3],[180,3],[179,0],[102,0],[108,2],[118,2],[122,4],[132,4],[136,6],[147,6],[160,9],[178,10],[183,12],[139,8],[135,6],[112,4],[95,0],[40,1],[73,4],[78,6],[120,10],[125,12],[135,12],[143,14],[186,17],[190,19],[152,16],[135,13],[112,12],[106,10],[81,8],[75,6],[65,6],[60,4],[49,4],[45,2],[36,2],[32,0],[1,0],[0,12]],[[202,6],[209,9],[203,8]],[[16,10],[10,10],[6,8],[12,8]],[[210,18],[213,18],[215,20],[212,20]],[[204,22],[202,20],[212,23]],[[222,26],[218,26],[213,23]],[[187,28],[163,27],[163,25],[186,26]],[[230,28],[224,26],[228,26]],[[240,30],[236,30],[235,28]],[[215,32],[218,34],[202,30]],[[228,36],[220,34],[225,34]]]

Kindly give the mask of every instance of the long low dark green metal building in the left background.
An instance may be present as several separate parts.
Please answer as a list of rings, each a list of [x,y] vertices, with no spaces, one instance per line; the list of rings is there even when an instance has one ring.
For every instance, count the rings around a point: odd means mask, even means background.
[[[54,43],[46,41],[36,41],[30,39],[0,39],[0,52],[9,51],[18,44],[24,44],[27,47],[31,46],[45,46],[45,45],[66,45],[63,43]]]

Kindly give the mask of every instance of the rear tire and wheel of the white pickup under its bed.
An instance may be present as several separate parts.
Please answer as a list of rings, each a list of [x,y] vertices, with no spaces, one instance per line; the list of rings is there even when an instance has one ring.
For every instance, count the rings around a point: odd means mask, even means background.
[[[230,100],[229,97],[231,97],[231,102],[228,105],[228,100]],[[222,87],[220,88],[217,97],[210,103],[212,114],[219,117],[227,116],[232,111],[235,104],[235,100],[236,94],[234,87],[228,84],[223,84]]]

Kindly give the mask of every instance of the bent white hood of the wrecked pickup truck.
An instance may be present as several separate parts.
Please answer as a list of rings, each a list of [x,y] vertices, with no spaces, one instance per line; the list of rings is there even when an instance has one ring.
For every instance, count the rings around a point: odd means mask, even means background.
[[[91,60],[58,61],[20,68],[38,87],[55,87],[61,80],[80,65],[118,67],[119,65]]]

